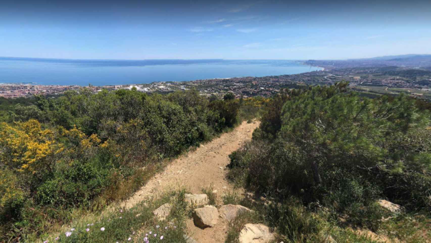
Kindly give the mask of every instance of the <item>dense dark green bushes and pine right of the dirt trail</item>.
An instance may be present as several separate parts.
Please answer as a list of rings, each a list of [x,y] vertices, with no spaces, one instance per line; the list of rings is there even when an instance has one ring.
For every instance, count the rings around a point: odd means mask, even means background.
[[[359,97],[344,82],[284,91],[252,141],[230,155],[229,177],[278,200],[266,217],[288,242],[324,240],[318,218],[378,230],[388,217],[378,199],[427,215],[431,122],[421,105],[404,95]],[[312,216],[319,208],[325,213]]]

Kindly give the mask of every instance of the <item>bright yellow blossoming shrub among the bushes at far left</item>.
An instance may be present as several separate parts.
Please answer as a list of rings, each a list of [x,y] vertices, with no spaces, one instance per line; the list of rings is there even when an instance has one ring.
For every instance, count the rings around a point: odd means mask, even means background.
[[[101,140],[96,134],[87,137],[76,127],[66,130],[43,129],[37,120],[17,122],[13,125],[0,125],[0,162],[15,167],[21,172],[36,173],[37,170],[49,169],[62,153],[73,152],[75,144],[80,151],[96,147]],[[107,143],[103,143],[106,147]],[[12,164],[11,164],[12,163]]]

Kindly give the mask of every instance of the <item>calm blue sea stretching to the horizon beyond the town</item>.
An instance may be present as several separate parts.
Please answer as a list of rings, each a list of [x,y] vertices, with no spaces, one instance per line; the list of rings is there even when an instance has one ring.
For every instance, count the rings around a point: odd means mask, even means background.
[[[292,60],[68,60],[0,57],[0,83],[125,85],[320,70]]]

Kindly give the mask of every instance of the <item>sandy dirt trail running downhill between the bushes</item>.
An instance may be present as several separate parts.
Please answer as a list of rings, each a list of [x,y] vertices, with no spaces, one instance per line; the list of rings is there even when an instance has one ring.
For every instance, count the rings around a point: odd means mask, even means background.
[[[195,151],[172,161],[163,172],[149,180],[121,206],[131,208],[149,196],[158,195],[178,186],[184,186],[191,193],[196,194],[201,194],[203,187],[212,186],[217,190],[218,204],[221,204],[223,193],[233,190],[233,186],[226,180],[225,167],[229,164],[228,155],[239,148],[241,143],[250,140],[257,126],[259,126],[258,122],[243,122],[233,131],[224,133],[219,138],[201,145]],[[226,230],[227,223],[221,218],[215,227],[204,230],[195,227],[192,219],[187,221],[187,233],[198,243],[224,242]]]

